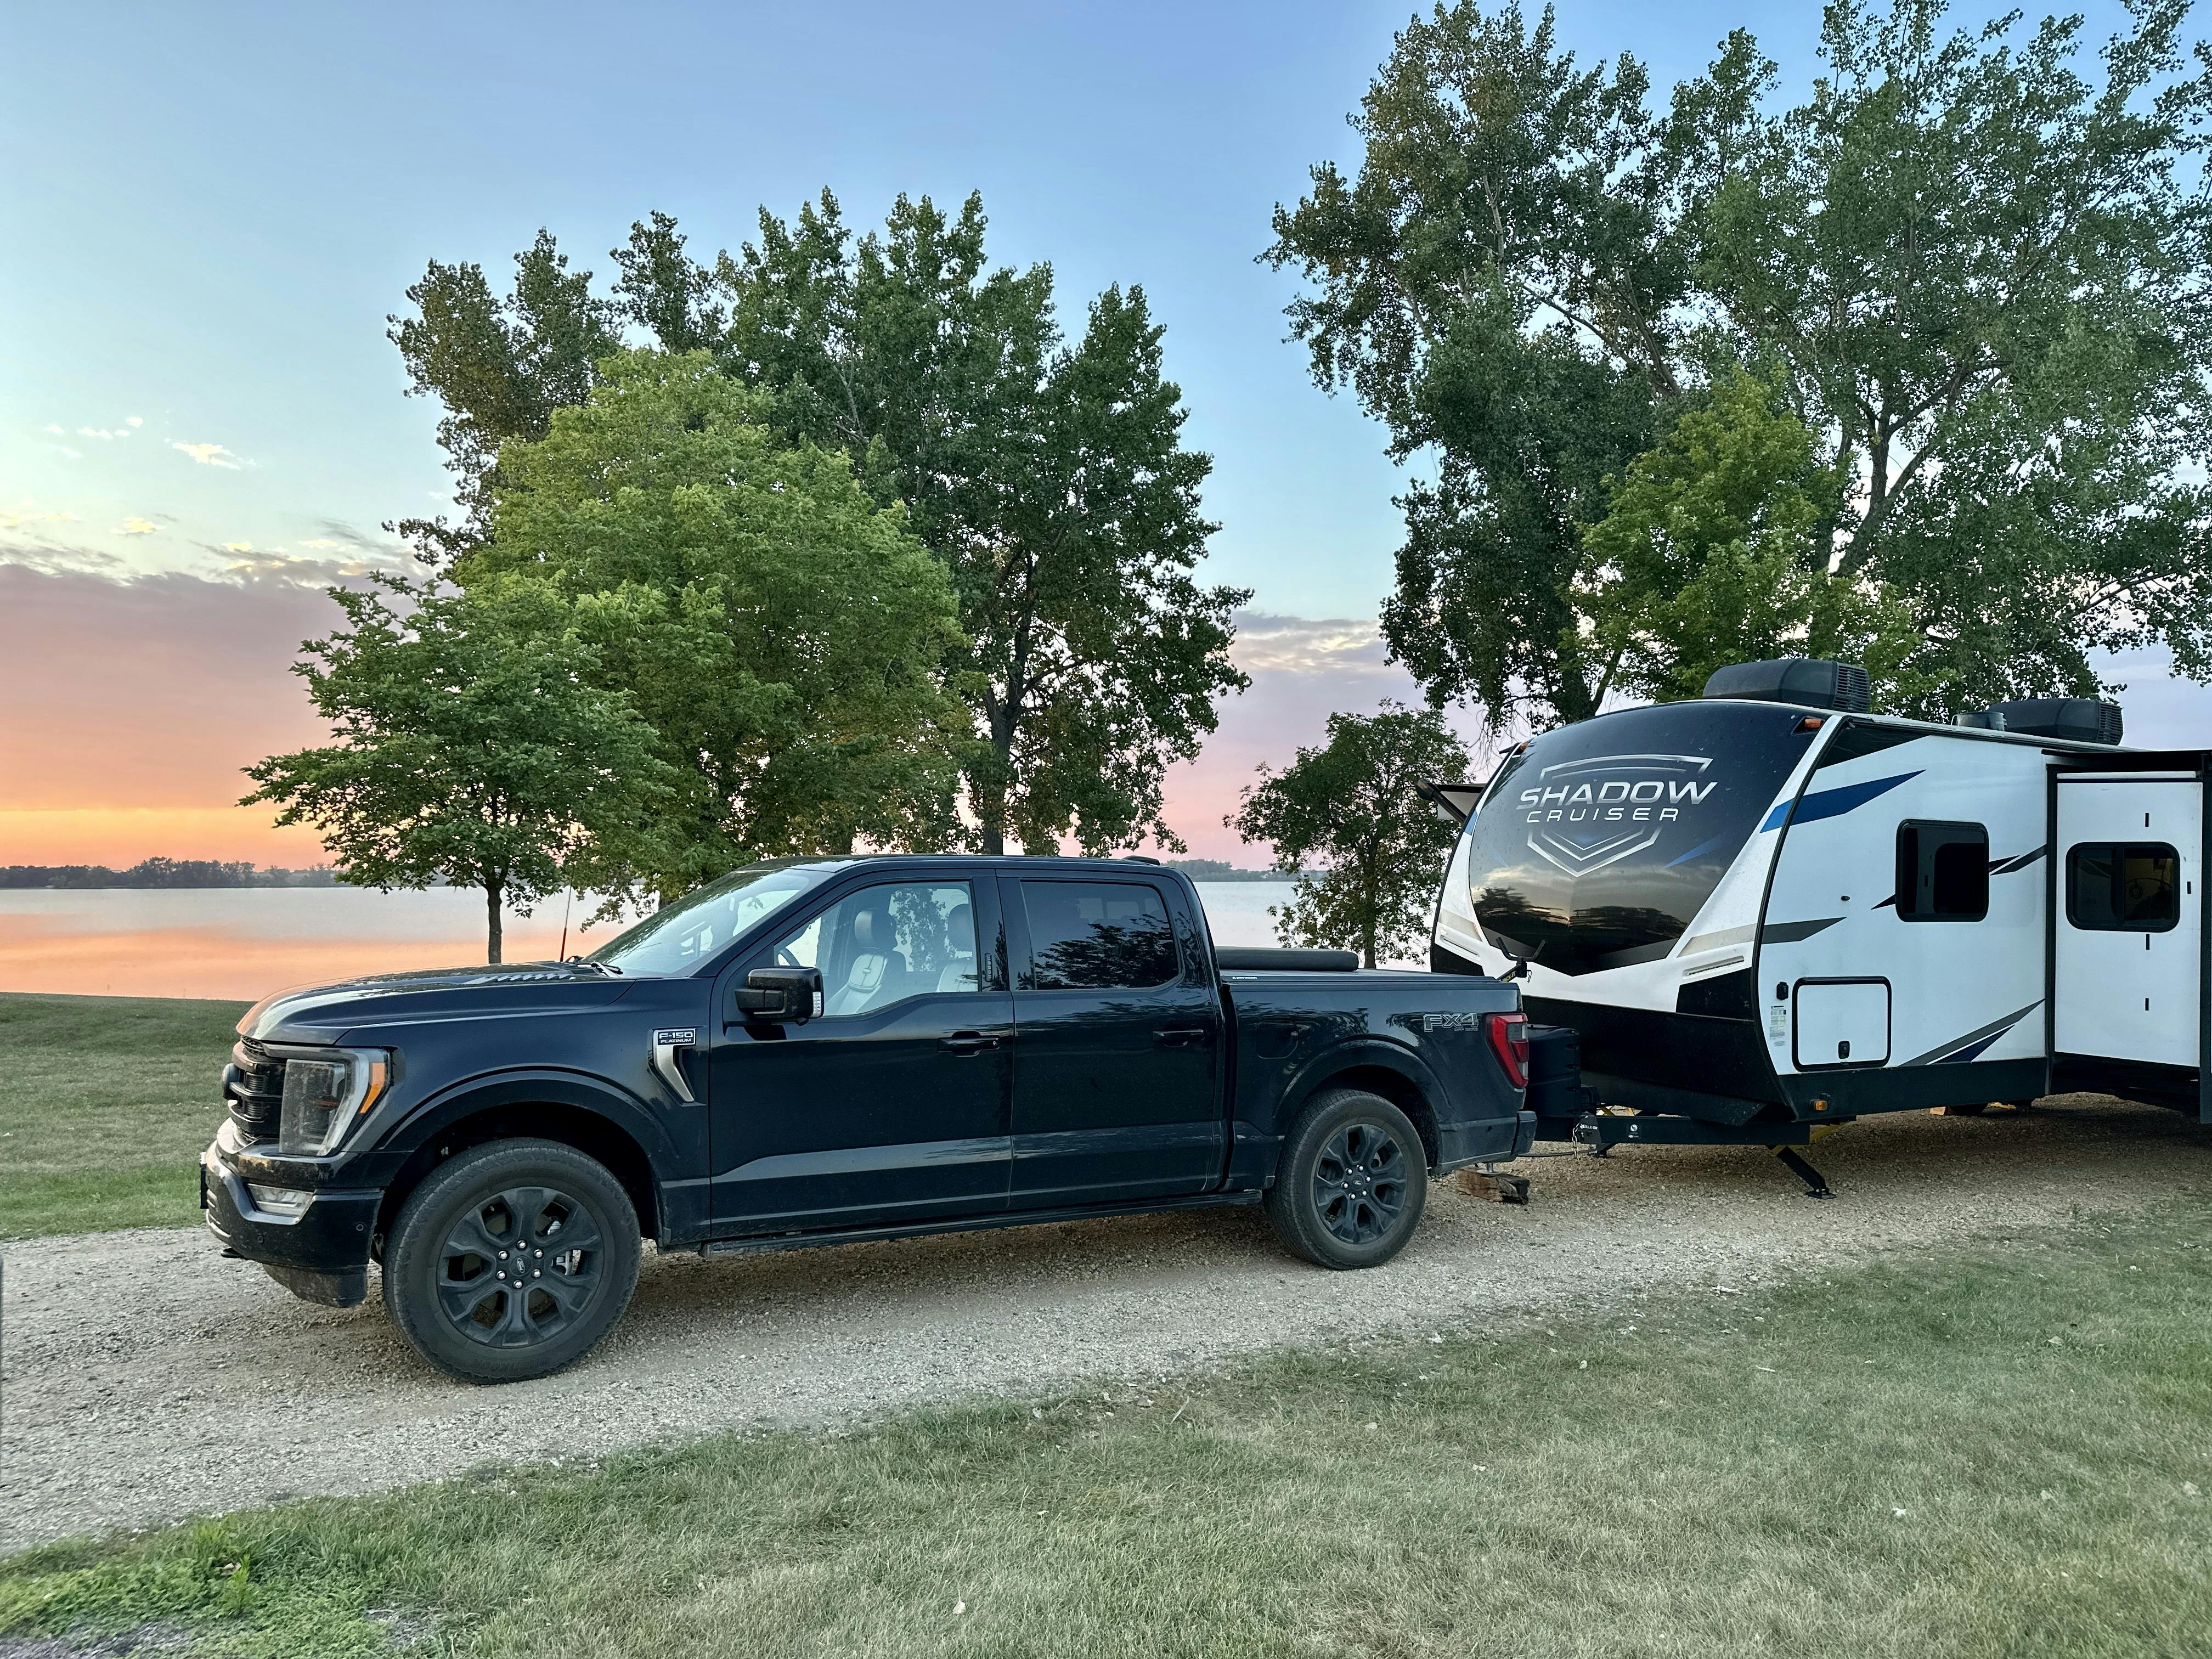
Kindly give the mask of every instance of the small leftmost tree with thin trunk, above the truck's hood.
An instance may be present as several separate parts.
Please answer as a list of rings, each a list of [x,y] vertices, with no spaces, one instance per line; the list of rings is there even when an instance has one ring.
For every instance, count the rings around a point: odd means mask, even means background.
[[[471,591],[332,588],[345,626],[294,666],[336,743],[248,768],[276,823],[310,823],[338,878],[480,887],[487,960],[504,905],[635,863],[672,772],[599,650],[542,580]],[[398,602],[403,608],[396,608]]]

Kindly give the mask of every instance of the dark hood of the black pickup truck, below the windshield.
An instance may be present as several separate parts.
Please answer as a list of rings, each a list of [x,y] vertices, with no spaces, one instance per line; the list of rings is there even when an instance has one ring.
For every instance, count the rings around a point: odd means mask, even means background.
[[[422,1020],[568,1013],[619,1002],[635,980],[575,962],[365,973],[263,998],[239,1020],[261,1042],[338,1042],[345,1031]]]

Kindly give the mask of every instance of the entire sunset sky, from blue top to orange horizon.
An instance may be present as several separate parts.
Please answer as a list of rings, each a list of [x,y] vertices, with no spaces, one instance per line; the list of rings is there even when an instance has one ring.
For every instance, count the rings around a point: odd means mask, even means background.
[[[2093,7],[2093,31],[2112,7]],[[549,226],[606,268],[675,212],[710,257],[832,186],[978,188],[1002,263],[1064,316],[1108,281],[1166,323],[1217,460],[1210,575],[1256,588],[1248,697],[1172,781],[1194,852],[1252,768],[1332,708],[1409,695],[1374,615],[1405,473],[1283,343],[1254,263],[1407,15],[1391,4],[9,7],[0,51],[0,865],[150,854],[316,863],[230,805],[314,741],[301,639],[330,582],[396,566],[440,511],[436,409],[385,314],[425,261],[493,268]],[[1980,13],[1962,20],[1980,20]],[[1752,24],[1803,88],[1816,9],[1571,4],[1582,53],[1663,86]],[[2130,737],[2203,741],[2205,695],[2124,664]]]

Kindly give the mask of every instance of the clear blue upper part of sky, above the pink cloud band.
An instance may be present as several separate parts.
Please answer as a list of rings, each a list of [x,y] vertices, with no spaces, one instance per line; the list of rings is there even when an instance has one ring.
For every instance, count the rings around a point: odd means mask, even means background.
[[[650,208],[712,252],[825,184],[854,221],[898,190],[978,188],[995,257],[1051,261],[1066,307],[1108,281],[1150,292],[1217,458],[1219,575],[1272,613],[1374,615],[1402,476],[1305,378],[1292,281],[1254,254],[1307,164],[1356,159],[1345,115],[1407,15],[13,7],[0,513],[75,513],[42,522],[135,568],[336,555],[312,546],[343,540],[325,520],[369,535],[445,500],[434,411],[400,396],[383,334],[427,259],[504,268],[551,226],[604,270]],[[1666,84],[1741,18],[1577,4],[1562,29]],[[1809,62],[1809,7],[1747,20]]]

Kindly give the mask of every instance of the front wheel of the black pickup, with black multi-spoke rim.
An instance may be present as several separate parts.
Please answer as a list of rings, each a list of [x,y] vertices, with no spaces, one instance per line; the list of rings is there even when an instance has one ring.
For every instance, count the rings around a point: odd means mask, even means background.
[[[560,1141],[493,1141],[438,1166],[385,1245],[385,1312],[462,1383],[575,1365],[637,1287],[637,1210]]]

